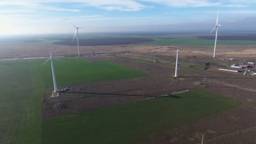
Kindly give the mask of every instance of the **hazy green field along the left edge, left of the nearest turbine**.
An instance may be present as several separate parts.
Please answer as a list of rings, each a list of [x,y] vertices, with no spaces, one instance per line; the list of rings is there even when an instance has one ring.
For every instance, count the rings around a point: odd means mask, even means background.
[[[0,62],[0,143],[41,143],[45,84],[38,61]]]

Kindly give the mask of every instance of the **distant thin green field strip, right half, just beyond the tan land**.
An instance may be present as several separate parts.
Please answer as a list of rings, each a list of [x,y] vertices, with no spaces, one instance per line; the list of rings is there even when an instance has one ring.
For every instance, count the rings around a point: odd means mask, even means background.
[[[139,43],[139,45],[214,45],[215,40],[192,40],[192,39],[160,39]],[[248,40],[218,40],[219,45],[256,45],[256,41]]]

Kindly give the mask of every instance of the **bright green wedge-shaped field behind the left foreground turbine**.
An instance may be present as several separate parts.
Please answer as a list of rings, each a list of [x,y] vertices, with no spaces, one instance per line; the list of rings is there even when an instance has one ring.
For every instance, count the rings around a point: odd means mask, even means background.
[[[88,62],[77,58],[54,60],[57,85],[72,85],[96,81],[118,80],[123,78],[149,76],[144,72],[123,67],[109,61]],[[47,87],[53,87],[51,62],[41,67],[41,72]]]

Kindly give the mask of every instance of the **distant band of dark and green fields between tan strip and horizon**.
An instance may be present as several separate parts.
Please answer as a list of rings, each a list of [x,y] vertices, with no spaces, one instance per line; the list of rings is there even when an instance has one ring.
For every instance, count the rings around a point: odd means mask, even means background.
[[[77,45],[75,40],[48,40],[58,45]],[[214,45],[215,35],[203,34],[173,34],[173,35],[107,35],[106,37],[87,37],[80,38],[81,46],[93,45]],[[46,42],[46,41],[45,41]],[[219,35],[219,45],[256,45],[253,35]]]

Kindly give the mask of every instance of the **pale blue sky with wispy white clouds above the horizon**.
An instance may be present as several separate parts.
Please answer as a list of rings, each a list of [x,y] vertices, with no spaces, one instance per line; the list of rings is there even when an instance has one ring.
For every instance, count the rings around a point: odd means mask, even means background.
[[[0,0],[0,35],[256,30],[256,0]]]

